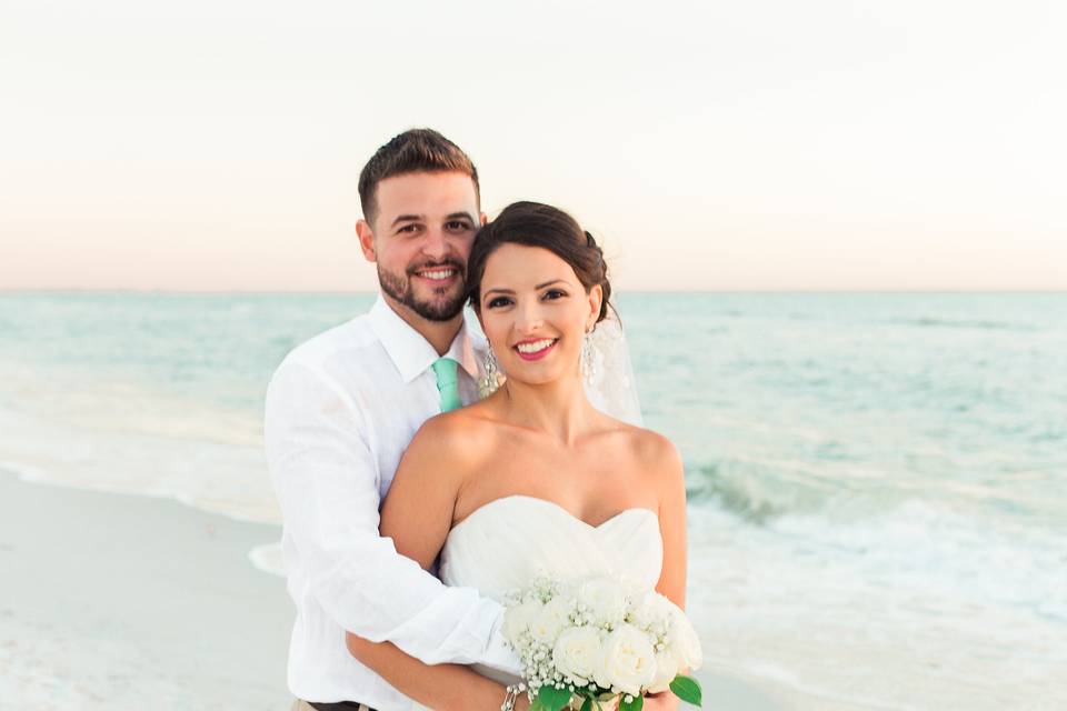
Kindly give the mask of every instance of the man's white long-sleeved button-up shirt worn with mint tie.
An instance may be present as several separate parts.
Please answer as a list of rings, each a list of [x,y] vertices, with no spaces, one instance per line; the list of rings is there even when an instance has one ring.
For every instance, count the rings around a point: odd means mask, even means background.
[[[460,395],[472,402],[478,358],[466,324],[446,357],[459,362]],[[378,533],[379,507],[405,449],[440,412],[437,359],[379,296],[369,313],[296,348],[271,380],[265,437],[297,608],[288,677],[299,699],[411,708],[349,654],[346,630],[431,664],[518,671],[497,602],[443,585]]]

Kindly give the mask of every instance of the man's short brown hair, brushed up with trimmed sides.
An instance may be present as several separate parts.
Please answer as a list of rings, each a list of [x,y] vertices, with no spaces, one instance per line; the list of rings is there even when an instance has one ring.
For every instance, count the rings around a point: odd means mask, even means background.
[[[359,173],[359,203],[363,218],[373,224],[378,217],[378,183],[386,178],[406,173],[452,171],[470,176],[480,206],[478,169],[467,153],[432,129],[410,129],[400,133],[379,148]]]

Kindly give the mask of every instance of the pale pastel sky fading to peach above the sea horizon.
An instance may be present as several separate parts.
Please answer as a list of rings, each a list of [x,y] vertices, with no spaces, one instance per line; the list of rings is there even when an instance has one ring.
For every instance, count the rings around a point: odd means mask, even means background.
[[[0,289],[370,290],[437,128],[624,289],[1067,289],[1067,3],[3,0]]]

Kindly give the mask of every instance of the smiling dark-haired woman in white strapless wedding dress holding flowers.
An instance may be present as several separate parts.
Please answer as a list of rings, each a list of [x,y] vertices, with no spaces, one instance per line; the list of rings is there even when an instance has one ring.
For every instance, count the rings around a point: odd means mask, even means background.
[[[486,224],[468,263],[470,303],[507,379],[412,440],[381,510],[381,534],[441,580],[498,600],[538,574],[626,575],[678,607],[686,590],[682,464],[664,437],[604,414],[582,388],[582,341],[609,310],[599,247],[567,213],[518,202]],[[456,687],[388,642],[348,648],[432,709],[496,708],[500,682]],[[451,683],[450,683],[451,681]],[[525,695],[516,704],[527,705]],[[677,704],[669,692],[646,709]]]

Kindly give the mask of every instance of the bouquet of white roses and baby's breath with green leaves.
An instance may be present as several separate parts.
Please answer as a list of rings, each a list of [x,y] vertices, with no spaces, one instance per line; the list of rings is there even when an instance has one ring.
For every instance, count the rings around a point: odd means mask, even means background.
[[[645,693],[670,689],[700,705],[700,684],[682,672],[702,662],[685,613],[664,595],[611,578],[575,583],[540,578],[510,595],[503,637],[518,653],[534,711],[639,711]]]

